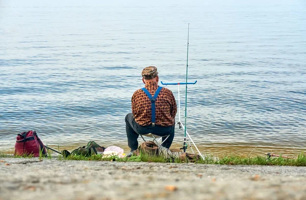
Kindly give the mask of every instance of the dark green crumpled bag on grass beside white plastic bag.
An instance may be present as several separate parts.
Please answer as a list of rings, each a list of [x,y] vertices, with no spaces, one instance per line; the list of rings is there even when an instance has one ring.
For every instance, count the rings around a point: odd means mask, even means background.
[[[77,149],[74,149],[71,154],[70,152],[68,152],[67,150],[63,150],[62,151],[62,155],[64,156],[64,158],[68,157],[68,156],[85,156],[85,157],[90,157],[92,155],[96,155],[96,154],[101,154],[102,152],[104,152],[105,147],[104,146],[100,146],[97,143],[95,143],[94,141],[90,141],[88,142],[88,144],[86,146],[81,146]]]

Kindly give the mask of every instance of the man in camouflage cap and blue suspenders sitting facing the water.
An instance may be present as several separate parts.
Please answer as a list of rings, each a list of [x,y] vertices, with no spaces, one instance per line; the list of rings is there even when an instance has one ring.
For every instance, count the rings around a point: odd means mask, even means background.
[[[132,113],[125,117],[127,143],[131,157],[138,148],[139,135],[152,133],[163,137],[170,135],[162,146],[169,148],[174,138],[176,102],[171,90],[158,86],[158,72],[154,66],[142,70],[144,88],[136,90],[132,96]],[[152,112],[153,110],[153,112]],[[155,112],[154,112],[155,111]]]

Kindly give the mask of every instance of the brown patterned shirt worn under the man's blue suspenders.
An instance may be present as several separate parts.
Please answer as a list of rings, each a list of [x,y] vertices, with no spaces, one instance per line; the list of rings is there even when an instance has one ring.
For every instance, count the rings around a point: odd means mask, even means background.
[[[152,96],[154,96],[158,85],[154,81],[148,81],[144,87]],[[163,87],[156,98],[155,107],[155,124],[162,127],[172,126],[174,124],[174,118],[177,111],[176,102],[172,91]],[[132,113],[135,121],[140,126],[148,126],[152,124],[151,101],[141,89],[136,90],[132,96]]]

